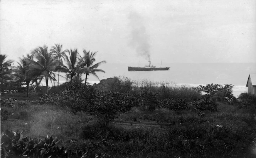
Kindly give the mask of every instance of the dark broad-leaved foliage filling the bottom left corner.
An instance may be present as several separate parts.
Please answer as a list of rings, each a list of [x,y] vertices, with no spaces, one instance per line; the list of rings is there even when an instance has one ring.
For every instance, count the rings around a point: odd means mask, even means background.
[[[13,132],[5,130],[1,137],[1,157],[4,158],[51,158],[51,157],[70,157],[70,158],[83,158],[83,157],[98,157],[98,154],[91,154],[86,149],[77,149],[76,152],[67,150],[64,146],[59,148],[58,143],[61,140],[57,137],[45,137],[38,139],[30,137],[23,137],[22,132]],[[106,157],[107,155],[101,156]]]

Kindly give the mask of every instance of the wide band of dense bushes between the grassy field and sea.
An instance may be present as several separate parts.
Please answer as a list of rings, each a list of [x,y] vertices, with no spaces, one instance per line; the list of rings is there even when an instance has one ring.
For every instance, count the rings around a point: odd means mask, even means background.
[[[105,124],[133,106],[148,111],[154,111],[157,108],[174,111],[190,109],[196,110],[199,116],[204,116],[205,110],[217,111],[217,101],[225,101],[224,103],[227,104],[225,97],[228,100],[233,97],[232,85],[208,84],[188,88],[162,84],[160,87],[152,85],[136,87],[129,79],[118,77],[103,80],[99,85],[94,86],[85,86],[78,82],[65,83],[59,87],[58,91],[58,93],[43,95],[39,103],[70,107],[74,113],[90,112]],[[200,95],[199,92],[207,94]],[[246,101],[248,99],[251,101]],[[234,100],[236,99],[229,101]],[[243,106],[251,105],[253,101],[253,97],[243,95],[240,104],[241,106],[242,104]]]

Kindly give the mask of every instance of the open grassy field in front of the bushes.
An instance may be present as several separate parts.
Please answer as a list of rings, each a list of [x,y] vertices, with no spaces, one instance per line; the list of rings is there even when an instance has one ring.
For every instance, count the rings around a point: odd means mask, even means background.
[[[111,157],[248,157],[253,158],[252,142],[256,135],[253,108],[217,103],[218,111],[205,110],[200,117],[190,110],[133,107],[107,127],[86,112],[55,105],[39,105],[38,95],[5,94],[1,99],[16,97],[1,120],[4,130],[24,131],[23,135],[62,139],[60,145],[72,151],[86,148],[91,153],[108,153]],[[75,141],[75,143],[71,143]]]

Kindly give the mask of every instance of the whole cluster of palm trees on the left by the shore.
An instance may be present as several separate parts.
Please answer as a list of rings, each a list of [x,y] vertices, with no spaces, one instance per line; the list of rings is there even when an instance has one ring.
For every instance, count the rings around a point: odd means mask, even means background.
[[[7,56],[1,54],[1,92],[5,90],[18,90],[22,92],[22,83],[27,85],[27,97],[30,92],[30,85],[35,83],[34,87],[39,86],[42,79],[45,80],[46,92],[49,91],[49,80],[57,81],[59,86],[60,72],[67,73],[67,79],[70,81],[75,80],[80,82],[81,74],[85,73],[85,82],[87,82],[87,76],[93,74],[97,76],[97,72],[104,72],[102,69],[98,69],[99,65],[106,63],[101,61],[94,64],[96,53],[86,52],[84,50],[84,56],[81,57],[77,52],[77,49],[68,51],[65,49],[62,51],[61,44],[55,44],[48,51],[47,46],[35,48],[26,57],[20,58],[20,63],[17,67],[13,67],[12,60],[6,60]],[[67,66],[63,61],[66,61]],[[56,73],[58,72],[58,80],[56,80]],[[15,87],[14,89],[12,87]]]

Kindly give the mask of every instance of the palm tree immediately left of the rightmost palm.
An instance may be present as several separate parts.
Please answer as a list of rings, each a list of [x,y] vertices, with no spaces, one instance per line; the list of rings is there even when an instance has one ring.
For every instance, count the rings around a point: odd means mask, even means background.
[[[67,52],[69,55],[65,56],[67,67],[62,65],[59,67],[59,70],[68,73],[66,76],[67,78],[70,77],[70,81],[72,81],[74,76],[79,76],[77,70],[80,68],[79,61],[81,60],[81,56],[77,52],[77,49],[70,49]]]

